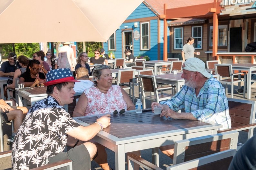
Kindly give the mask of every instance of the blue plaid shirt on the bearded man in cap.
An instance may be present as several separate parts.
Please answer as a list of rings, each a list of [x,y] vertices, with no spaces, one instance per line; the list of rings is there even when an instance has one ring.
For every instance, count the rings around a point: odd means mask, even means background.
[[[194,88],[183,86],[173,98],[160,104],[168,105],[176,112],[185,108],[185,112],[192,113],[197,120],[222,124],[221,129],[231,128],[225,89],[213,76],[204,83],[198,96]]]

